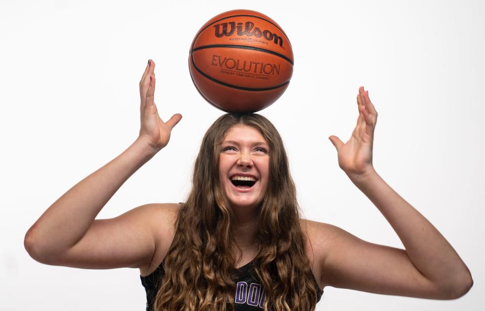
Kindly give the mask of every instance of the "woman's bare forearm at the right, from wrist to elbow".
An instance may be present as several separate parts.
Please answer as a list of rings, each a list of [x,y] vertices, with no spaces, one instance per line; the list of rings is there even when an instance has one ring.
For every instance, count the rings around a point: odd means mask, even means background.
[[[351,180],[391,224],[412,263],[426,278],[445,287],[471,282],[468,268],[450,243],[375,171]]]

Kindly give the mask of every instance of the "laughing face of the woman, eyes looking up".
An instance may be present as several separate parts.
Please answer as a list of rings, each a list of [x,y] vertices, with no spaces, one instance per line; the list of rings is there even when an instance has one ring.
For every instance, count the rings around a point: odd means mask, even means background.
[[[250,126],[230,128],[221,143],[219,179],[233,208],[252,209],[263,201],[269,179],[269,146]]]

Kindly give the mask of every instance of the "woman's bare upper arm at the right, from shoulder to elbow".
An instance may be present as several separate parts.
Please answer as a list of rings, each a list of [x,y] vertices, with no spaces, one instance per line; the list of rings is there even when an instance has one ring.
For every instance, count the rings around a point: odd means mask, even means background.
[[[405,250],[364,241],[336,226],[313,222],[320,240],[321,282],[338,288],[444,299],[439,287],[413,265]]]

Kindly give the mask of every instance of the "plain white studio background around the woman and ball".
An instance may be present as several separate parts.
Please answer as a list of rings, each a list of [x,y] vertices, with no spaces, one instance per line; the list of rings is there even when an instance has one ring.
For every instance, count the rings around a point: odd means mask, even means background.
[[[327,287],[317,310],[476,310],[485,260],[483,2],[161,0],[0,2],[0,309],[144,310],[137,269],[43,265],[24,250],[24,234],[136,139],[149,58],[161,117],[183,118],[97,218],[185,199],[202,136],[223,113],[193,86],[189,45],[207,20],[233,9],[268,15],[293,44],[292,82],[260,113],[283,138],[305,216],[403,247],[328,140],[350,137],[363,85],[379,113],[376,171],[448,239],[474,279],[451,301]]]

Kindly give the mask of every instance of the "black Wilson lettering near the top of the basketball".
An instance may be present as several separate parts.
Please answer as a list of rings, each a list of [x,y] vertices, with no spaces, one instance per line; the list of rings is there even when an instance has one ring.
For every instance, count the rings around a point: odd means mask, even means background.
[[[223,36],[232,36],[235,32],[238,36],[255,36],[257,38],[263,37],[268,41],[273,41],[275,44],[278,44],[281,47],[283,46],[283,38],[269,30],[261,31],[259,27],[254,27],[253,22],[246,22],[244,24],[244,30],[243,23],[237,23],[236,25],[235,22],[217,24],[214,25],[214,29],[215,36],[218,38],[222,38]]]

